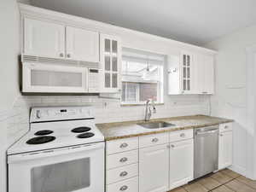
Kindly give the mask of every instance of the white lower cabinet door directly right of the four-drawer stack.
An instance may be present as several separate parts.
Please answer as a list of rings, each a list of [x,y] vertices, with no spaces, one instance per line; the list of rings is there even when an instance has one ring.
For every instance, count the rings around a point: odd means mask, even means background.
[[[140,192],[164,192],[168,190],[168,150],[166,144],[139,149]]]

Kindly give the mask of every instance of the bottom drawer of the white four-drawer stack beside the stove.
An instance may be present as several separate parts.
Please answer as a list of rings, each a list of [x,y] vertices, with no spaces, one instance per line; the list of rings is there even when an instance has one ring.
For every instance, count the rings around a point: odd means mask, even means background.
[[[138,177],[107,185],[107,192],[138,192]]]

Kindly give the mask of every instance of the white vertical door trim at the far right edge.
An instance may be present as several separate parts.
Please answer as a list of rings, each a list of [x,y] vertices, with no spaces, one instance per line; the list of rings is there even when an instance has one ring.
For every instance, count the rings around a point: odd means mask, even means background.
[[[247,172],[246,176],[256,179],[256,45],[246,49],[247,54]]]

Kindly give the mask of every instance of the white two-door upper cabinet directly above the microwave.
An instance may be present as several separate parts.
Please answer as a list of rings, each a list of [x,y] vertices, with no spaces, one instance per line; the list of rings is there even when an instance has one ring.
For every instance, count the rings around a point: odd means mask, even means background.
[[[24,54],[99,62],[99,33],[25,18]]]

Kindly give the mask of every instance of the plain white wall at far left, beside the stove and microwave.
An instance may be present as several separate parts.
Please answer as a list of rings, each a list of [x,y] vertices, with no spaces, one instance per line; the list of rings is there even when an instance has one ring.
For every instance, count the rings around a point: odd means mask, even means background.
[[[20,14],[15,0],[0,2],[0,191],[6,191],[5,150],[7,145],[7,118],[19,95],[18,55],[20,48]]]

